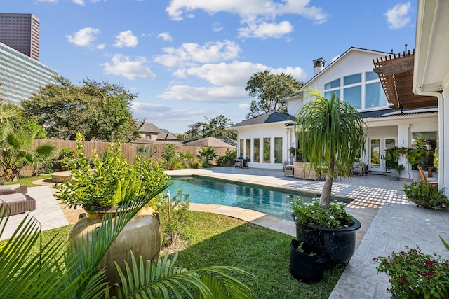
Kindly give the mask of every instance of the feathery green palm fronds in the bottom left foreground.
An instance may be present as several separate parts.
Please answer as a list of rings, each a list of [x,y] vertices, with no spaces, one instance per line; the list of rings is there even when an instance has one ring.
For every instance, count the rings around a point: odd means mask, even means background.
[[[0,298],[109,298],[105,271],[100,260],[121,230],[142,207],[166,188],[161,182],[154,193],[127,200],[122,209],[103,219],[91,235],[66,249],[66,236],[42,244],[40,224],[29,215],[11,239],[0,242]],[[112,218],[114,217],[114,221]],[[0,205],[0,237],[8,223],[8,209]],[[41,244],[38,252],[35,244]],[[132,253],[130,253],[132,254]],[[253,298],[253,292],[227,272],[253,277],[234,267],[185,270],[168,258],[138,262],[121,272],[119,298]],[[254,277],[253,277],[254,278]]]

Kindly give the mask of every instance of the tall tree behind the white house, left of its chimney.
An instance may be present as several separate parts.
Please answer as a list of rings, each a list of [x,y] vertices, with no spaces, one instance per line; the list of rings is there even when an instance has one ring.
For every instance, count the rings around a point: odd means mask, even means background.
[[[250,97],[257,97],[258,102],[253,99],[250,103],[250,113],[246,118],[253,118],[268,111],[280,111],[286,113],[287,104],[281,99],[293,95],[299,90],[304,82],[297,81],[292,75],[271,74],[269,70],[259,71],[251,76],[246,83],[245,90]]]

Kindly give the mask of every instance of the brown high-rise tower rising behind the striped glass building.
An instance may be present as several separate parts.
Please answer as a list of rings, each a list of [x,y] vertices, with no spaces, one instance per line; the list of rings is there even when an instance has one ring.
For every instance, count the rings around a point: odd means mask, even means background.
[[[39,19],[30,13],[0,13],[0,42],[39,60]]]

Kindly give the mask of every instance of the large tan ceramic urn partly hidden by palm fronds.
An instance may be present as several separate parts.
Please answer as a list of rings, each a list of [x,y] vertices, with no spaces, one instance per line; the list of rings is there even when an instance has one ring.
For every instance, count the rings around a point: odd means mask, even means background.
[[[90,240],[89,236],[95,231],[95,228],[98,228],[102,218],[114,212],[113,208],[106,211],[86,211],[86,214],[81,214],[78,222],[69,232],[67,246],[73,246],[75,240],[81,239],[81,236]],[[120,278],[114,261],[120,265],[121,269],[125,269],[124,260],[131,265],[131,250],[135,257],[142,256],[144,261],[157,260],[161,250],[161,237],[161,221],[158,212],[145,206],[135,214],[116,237],[100,261],[98,269],[106,269],[108,281],[111,281],[112,284],[119,282]]]

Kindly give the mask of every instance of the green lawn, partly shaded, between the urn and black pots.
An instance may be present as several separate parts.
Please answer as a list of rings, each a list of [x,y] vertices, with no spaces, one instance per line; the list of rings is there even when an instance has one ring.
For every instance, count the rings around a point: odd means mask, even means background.
[[[256,298],[328,298],[340,278],[342,266],[325,270],[323,281],[304,284],[288,272],[289,235],[283,235],[235,218],[190,211],[192,221],[182,231],[187,247],[178,253],[178,267],[195,269],[231,265],[252,272],[257,281],[239,277],[255,291]],[[51,239],[67,236],[71,225],[43,232]],[[38,247],[36,246],[36,250]]]

